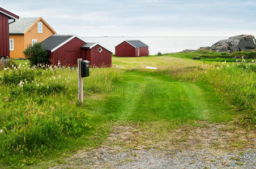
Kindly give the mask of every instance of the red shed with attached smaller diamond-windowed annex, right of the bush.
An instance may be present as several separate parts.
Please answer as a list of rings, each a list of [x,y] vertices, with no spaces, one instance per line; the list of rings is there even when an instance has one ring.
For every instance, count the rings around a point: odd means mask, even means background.
[[[110,67],[112,52],[97,43],[86,43],[75,35],[52,35],[42,41],[49,63],[76,66],[78,59],[90,61],[92,67]]]

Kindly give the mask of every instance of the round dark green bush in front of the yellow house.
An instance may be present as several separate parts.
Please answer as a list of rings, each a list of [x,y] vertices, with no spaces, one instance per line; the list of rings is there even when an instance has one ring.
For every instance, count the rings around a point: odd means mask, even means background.
[[[48,63],[48,53],[44,50],[41,43],[35,43],[34,45],[28,45],[23,51],[25,57],[29,60],[30,65],[45,65]]]

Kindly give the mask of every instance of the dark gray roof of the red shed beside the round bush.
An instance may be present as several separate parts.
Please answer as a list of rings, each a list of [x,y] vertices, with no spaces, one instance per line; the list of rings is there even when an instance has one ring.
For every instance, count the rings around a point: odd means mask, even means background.
[[[55,47],[61,45],[61,43],[67,41],[67,39],[71,38],[74,35],[57,35],[54,34],[50,36],[49,38],[42,41],[42,46],[46,51],[51,51]]]

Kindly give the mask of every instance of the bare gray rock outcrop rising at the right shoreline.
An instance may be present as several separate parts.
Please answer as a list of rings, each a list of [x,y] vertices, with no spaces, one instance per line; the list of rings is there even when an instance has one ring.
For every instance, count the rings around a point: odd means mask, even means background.
[[[208,50],[214,52],[238,52],[250,51],[256,46],[256,39],[253,35],[237,35],[225,40],[218,41],[211,47],[206,47]]]

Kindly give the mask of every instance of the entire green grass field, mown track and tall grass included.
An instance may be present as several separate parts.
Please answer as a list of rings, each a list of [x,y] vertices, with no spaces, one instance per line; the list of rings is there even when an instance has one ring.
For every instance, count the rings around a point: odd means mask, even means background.
[[[84,104],[75,69],[30,69],[19,60],[20,70],[0,70],[0,167],[54,166],[99,146],[117,124],[232,123],[254,133],[254,65],[190,59],[197,55],[113,57],[113,68],[91,69],[84,79]]]

